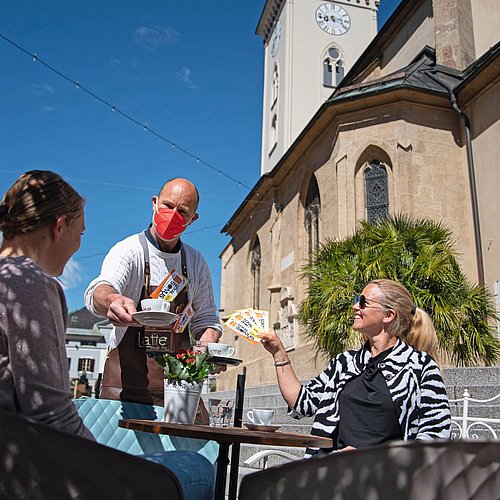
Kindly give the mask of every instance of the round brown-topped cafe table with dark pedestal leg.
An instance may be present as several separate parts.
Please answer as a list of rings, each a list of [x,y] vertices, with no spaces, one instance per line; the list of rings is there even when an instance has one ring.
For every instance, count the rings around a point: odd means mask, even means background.
[[[293,446],[314,448],[331,448],[330,438],[295,434],[290,432],[264,432],[242,429],[240,427],[210,427],[208,425],[172,424],[154,420],[120,420],[120,427],[134,431],[167,434],[169,436],[206,439],[219,444],[217,457],[217,475],[215,481],[215,500],[224,500],[226,490],[227,466],[229,464],[229,447],[235,443],[263,444],[269,446]],[[235,485],[230,490],[236,491]]]

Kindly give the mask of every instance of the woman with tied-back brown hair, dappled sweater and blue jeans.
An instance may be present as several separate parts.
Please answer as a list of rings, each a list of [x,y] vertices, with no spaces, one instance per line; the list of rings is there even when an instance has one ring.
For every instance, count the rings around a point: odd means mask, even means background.
[[[94,440],[71,401],[68,308],[55,276],[80,247],[84,200],[54,172],[21,175],[0,202],[0,409]],[[189,451],[142,455],[186,498],[211,499],[214,468]]]

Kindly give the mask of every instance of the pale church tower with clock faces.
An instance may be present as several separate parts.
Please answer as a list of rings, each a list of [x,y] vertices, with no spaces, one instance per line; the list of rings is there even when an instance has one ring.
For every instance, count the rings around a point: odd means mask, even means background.
[[[261,175],[270,172],[377,34],[379,0],[267,0]]]

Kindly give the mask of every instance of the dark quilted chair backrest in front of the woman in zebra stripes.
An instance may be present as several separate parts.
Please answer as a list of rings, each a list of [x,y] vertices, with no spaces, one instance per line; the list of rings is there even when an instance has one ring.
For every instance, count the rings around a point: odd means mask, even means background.
[[[400,441],[249,474],[239,500],[486,500],[499,492],[500,442]]]

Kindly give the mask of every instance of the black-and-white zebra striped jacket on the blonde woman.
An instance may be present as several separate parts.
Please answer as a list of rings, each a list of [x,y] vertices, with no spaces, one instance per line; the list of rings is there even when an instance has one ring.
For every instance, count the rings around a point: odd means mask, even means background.
[[[311,434],[332,436],[339,423],[340,393],[349,380],[363,372],[370,358],[368,342],[357,351],[337,355],[322,373],[302,386],[289,415],[315,416]],[[394,401],[403,439],[448,439],[451,431],[448,397],[431,356],[398,339],[378,367]],[[316,452],[308,448],[305,456]]]

